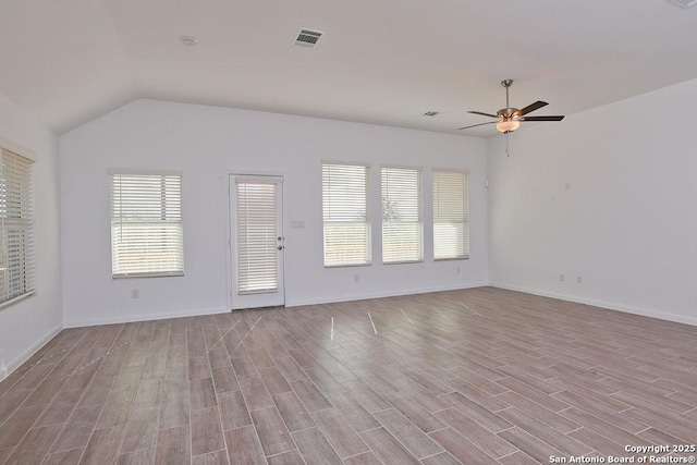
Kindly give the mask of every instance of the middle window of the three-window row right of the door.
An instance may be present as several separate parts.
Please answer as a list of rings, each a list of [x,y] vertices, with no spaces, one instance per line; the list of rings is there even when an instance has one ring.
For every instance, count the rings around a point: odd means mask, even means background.
[[[382,167],[382,262],[424,260],[421,171]]]

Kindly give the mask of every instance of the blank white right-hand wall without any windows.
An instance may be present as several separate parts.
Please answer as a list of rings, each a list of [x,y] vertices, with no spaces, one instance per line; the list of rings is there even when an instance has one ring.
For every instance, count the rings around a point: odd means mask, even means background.
[[[518,131],[508,158],[491,139],[491,282],[697,325],[694,108],[697,81]]]

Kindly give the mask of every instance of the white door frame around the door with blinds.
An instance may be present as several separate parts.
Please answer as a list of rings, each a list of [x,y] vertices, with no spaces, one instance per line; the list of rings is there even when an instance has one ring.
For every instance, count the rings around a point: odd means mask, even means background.
[[[283,237],[286,237],[286,206],[285,206],[285,200],[286,200],[286,195],[285,195],[285,174],[282,172],[278,172],[278,171],[262,171],[262,170],[225,170],[223,172],[222,181],[223,181],[223,193],[225,196],[225,215],[224,215],[224,219],[225,219],[225,247],[223,248],[225,250],[225,262],[227,262],[227,267],[225,267],[225,301],[227,301],[227,306],[228,306],[228,311],[237,311],[236,309],[232,308],[232,301],[233,301],[233,293],[235,292],[235,290],[233,289],[235,282],[234,282],[234,266],[235,264],[233,264],[232,260],[232,244],[233,244],[233,240],[232,240],[232,208],[233,206],[231,205],[231,179],[232,176],[258,176],[258,178],[280,178],[280,186],[281,186],[281,199],[282,199],[282,206],[281,206],[281,233],[283,235]],[[283,271],[283,305],[285,306],[285,241],[283,241],[284,243],[284,248],[283,248],[283,267],[282,267],[282,271]]]

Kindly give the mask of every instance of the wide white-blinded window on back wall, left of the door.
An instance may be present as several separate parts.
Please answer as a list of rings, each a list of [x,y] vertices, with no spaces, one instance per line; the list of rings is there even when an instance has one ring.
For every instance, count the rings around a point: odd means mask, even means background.
[[[112,277],[183,276],[182,176],[110,174]]]

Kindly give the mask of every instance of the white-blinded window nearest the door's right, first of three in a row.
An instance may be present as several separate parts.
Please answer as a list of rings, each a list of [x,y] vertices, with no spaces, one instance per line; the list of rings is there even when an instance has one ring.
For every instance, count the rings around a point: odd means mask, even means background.
[[[322,163],[325,266],[370,265],[368,167]]]

